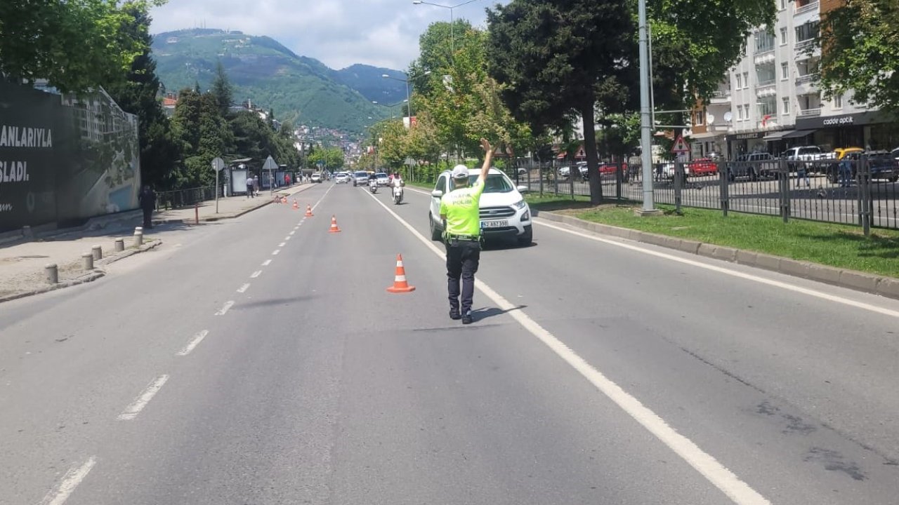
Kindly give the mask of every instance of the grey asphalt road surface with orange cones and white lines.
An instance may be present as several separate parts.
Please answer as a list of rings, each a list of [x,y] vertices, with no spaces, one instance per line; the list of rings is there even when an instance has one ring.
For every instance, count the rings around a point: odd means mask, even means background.
[[[0,504],[899,502],[899,302],[538,224],[463,327],[428,195],[298,197],[0,307]]]

